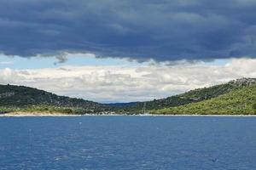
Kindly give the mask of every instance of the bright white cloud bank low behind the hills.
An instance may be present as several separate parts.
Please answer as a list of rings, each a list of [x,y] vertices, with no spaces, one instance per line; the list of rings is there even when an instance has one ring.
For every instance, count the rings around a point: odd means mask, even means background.
[[[256,77],[256,59],[226,65],[72,66],[0,70],[0,83],[41,88],[100,102],[159,99],[194,88]]]

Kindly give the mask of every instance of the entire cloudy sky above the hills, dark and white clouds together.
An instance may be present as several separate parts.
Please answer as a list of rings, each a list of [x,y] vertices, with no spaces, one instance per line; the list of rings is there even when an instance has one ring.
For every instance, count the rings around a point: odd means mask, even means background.
[[[256,77],[255,0],[3,0],[0,83],[103,103]]]

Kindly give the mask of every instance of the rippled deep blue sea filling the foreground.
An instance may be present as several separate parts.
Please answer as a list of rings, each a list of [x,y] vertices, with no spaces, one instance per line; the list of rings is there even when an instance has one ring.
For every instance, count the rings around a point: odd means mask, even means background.
[[[0,169],[256,169],[256,117],[0,118]]]

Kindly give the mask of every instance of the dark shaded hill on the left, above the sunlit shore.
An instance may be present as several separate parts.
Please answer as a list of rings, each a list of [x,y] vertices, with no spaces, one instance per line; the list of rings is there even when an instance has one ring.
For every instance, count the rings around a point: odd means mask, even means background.
[[[6,110],[21,110],[26,108],[39,107],[40,109],[69,109],[71,112],[101,112],[109,111],[108,105],[102,105],[93,101],[84,99],[69,98],[66,96],[58,96],[38,90],[37,88],[28,88],[24,86],[0,85],[0,107],[2,111]],[[1,110],[0,110],[1,111]]]

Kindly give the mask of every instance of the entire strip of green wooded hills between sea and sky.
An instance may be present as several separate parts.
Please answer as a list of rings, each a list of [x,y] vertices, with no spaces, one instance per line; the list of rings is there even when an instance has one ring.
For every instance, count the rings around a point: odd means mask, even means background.
[[[166,99],[127,105],[103,105],[36,88],[0,85],[0,113],[140,114],[144,103],[152,114],[256,114],[256,79],[241,78]]]

